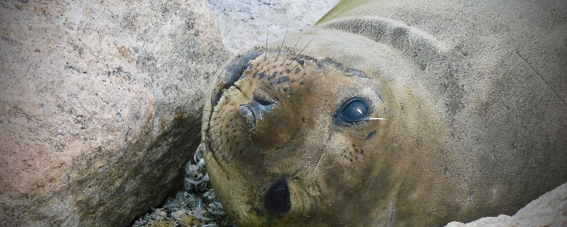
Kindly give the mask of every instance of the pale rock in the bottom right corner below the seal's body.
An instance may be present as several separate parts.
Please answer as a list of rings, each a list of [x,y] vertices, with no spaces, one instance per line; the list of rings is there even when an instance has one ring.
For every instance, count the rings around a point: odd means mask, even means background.
[[[463,224],[453,221],[445,227],[563,227],[567,226],[567,183],[531,201],[513,216],[483,217]]]

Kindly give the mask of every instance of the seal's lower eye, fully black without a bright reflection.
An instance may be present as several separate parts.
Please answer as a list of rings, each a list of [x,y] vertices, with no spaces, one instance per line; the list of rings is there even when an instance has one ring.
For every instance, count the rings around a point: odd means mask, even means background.
[[[274,183],[266,194],[266,208],[272,213],[285,213],[290,207],[287,183],[284,181]]]

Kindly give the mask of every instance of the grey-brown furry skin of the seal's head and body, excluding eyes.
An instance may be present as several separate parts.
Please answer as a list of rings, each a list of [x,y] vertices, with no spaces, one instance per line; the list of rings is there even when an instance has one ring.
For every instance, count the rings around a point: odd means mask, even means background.
[[[233,58],[203,124],[223,206],[239,226],[515,213],[567,181],[565,4],[342,1],[281,51]],[[337,121],[356,97],[386,120]]]

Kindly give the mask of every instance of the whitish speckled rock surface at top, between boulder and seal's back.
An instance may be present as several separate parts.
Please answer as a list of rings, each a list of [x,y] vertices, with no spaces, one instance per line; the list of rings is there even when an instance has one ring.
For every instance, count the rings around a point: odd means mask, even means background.
[[[283,39],[311,27],[339,0],[209,0],[221,27],[222,41],[231,54]]]

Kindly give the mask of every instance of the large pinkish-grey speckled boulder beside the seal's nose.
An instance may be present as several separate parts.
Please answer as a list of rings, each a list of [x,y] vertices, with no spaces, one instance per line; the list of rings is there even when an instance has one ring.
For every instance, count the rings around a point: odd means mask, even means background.
[[[0,3],[0,226],[126,226],[183,187],[206,0]]]

